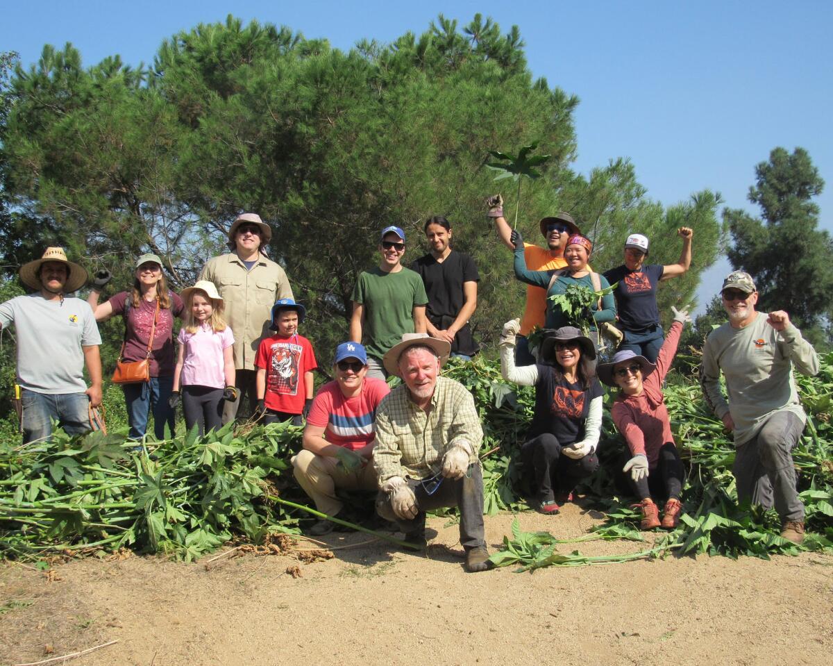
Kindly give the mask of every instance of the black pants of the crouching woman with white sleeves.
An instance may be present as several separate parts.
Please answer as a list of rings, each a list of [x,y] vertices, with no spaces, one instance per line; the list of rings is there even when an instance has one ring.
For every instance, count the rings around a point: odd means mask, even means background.
[[[521,447],[525,489],[539,502],[554,499],[556,490],[570,493],[576,483],[599,468],[596,451],[575,460],[562,455],[561,448],[552,433],[531,438]]]

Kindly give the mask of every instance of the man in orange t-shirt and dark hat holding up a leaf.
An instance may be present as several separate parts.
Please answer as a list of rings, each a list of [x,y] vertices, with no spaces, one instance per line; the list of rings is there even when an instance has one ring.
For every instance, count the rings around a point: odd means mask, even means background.
[[[503,217],[503,198],[500,194],[496,194],[488,198],[486,204],[489,207],[488,217],[495,220],[497,235],[501,238],[503,244],[514,252],[515,245],[509,239],[512,229],[509,223],[506,222],[506,218]],[[554,271],[558,268],[564,268],[566,266],[564,248],[567,244],[567,238],[570,238],[573,234],[581,233],[581,230],[576,226],[576,221],[567,213],[559,212],[552,217],[541,218],[541,222],[538,224],[541,228],[541,234],[546,238],[546,248],[524,243],[526,268],[531,271]],[[516,365],[536,363],[535,357],[529,351],[526,336],[532,332],[532,329],[544,327],[545,315],[546,289],[527,284],[526,307],[521,318],[521,332],[516,338],[515,345]]]

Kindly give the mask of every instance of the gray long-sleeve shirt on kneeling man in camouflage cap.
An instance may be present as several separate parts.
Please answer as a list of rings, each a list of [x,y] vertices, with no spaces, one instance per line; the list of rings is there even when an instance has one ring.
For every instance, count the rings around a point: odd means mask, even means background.
[[[772,413],[786,410],[806,419],[798,399],[793,367],[807,375],[819,371],[811,343],[790,324],[778,333],[766,323],[766,314],[744,328],[723,324],[709,333],[703,346],[700,380],[706,402],[718,418],[731,413],[735,445],[753,438]],[[728,402],[721,392],[721,371],[726,378]]]

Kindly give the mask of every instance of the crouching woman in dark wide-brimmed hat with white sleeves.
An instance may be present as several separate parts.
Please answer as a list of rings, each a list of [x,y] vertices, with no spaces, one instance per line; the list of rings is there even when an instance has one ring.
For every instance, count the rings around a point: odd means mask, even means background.
[[[578,328],[548,331],[541,362],[515,366],[520,321],[501,333],[501,373],[506,381],[535,387],[535,411],[521,447],[526,490],[540,513],[554,515],[576,483],[599,468],[603,390],[594,369],[596,348]]]

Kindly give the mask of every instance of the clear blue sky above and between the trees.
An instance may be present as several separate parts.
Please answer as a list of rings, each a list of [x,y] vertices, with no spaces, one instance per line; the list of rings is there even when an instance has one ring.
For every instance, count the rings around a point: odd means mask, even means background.
[[[307,38],[351,48],[422,33],[439,13],[461,25],[475,13],[503,32],[521,29],[532,73],[581,98],[579,157],[588,173],[627,157],[651,198],[666,205],[702,188],[747,208],[756,163],[772,148],[806,148],[826,191],[821,226],[833,230],[833,3],[698,2],[244,2],[6,3],[0,50],[34,63],[45,43],[72,42],[87,65],[118,53],[152,63],[164,38],[197,23],[286,25]],[[696,243],[696,238],[695,238]],[[727,264],[706,274],[701,305]]]

